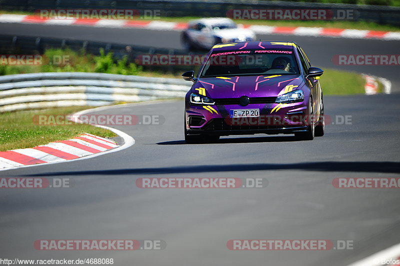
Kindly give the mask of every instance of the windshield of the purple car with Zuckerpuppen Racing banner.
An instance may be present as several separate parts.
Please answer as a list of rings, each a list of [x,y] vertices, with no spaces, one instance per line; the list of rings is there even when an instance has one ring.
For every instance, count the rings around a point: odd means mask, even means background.
[[[292,49],[248,49],[211,53],[200,77],[298,73]]]

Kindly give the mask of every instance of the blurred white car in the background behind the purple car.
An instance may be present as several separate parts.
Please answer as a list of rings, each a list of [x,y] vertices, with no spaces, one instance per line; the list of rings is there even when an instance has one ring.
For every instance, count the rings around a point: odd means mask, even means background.
[[[255,33],[226,17],[210,17],[189,21],[182,32],[181,42],[185,49],[209,50],[218,43],[255,40]]]

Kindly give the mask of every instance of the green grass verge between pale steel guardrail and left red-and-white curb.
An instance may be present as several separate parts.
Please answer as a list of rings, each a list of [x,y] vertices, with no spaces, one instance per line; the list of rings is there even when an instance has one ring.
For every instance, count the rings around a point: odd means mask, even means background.
[[[115,133],[87,124],[75,125],[36,125],[35,114],[71,114],[88,106],[62,107],[49,110],[31,110],[0,113],[0,151],[15,148],[29,148],[56,140],[65,140],[80,133],[90,133],[102,137],[113,137]]]

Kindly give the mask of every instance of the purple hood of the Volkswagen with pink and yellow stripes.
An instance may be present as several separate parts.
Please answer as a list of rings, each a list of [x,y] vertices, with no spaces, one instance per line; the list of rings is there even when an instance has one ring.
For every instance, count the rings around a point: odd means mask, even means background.
[[[211,98],[272,97],[283,94],[286,88],[301,88],[303,79],[300,75],[260,75],[201,77],[193,84],[191,91],[205,88],[205,95]]]

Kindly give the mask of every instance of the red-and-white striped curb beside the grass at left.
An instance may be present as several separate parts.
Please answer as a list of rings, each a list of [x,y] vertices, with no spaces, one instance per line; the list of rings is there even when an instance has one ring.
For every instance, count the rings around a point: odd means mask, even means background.
[[[76,159],[118,147],[115,141],[84,133],[33,148],[0,151],[0,168]]]

